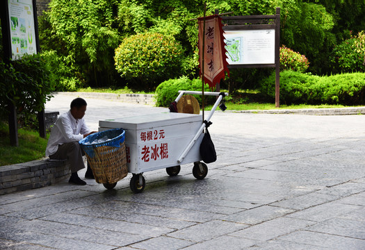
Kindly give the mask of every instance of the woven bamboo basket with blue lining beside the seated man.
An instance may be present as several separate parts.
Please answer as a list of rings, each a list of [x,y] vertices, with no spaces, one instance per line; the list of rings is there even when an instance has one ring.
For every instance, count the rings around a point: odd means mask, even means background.
[[[106,142],[92,143],[108,137]],[[94,133],[79,142],[97,183],[117,183],[127,176],[127,156],[125,150],[125,131],[114,128],[108,131]]]

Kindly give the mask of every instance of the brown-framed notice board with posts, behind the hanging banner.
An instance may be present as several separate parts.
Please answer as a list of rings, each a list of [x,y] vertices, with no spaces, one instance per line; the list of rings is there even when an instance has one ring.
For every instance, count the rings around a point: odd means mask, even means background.
[[[222,23],[229,68],[275,67],[275,106],[278,108],[280,8],[276,8],[275,15],[222,17]]]

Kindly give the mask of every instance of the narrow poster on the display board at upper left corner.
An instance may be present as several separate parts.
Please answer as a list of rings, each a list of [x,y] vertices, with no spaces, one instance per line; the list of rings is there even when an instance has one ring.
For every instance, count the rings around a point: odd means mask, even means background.
[[[8,0],[11,57],[37,53],[32,0]]]

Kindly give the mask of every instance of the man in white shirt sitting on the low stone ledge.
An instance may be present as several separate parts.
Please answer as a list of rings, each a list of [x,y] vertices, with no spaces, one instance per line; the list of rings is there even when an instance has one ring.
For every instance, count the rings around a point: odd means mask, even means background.
[[[69,183],[86,185],[86,182],[79,178],[77,172],[83,169],[83,155],[85,153],[80,147],[79,141],[86,136],[95,133],[90,131],[83,119],[88,104],[82,98],[76,98],[71,102],[70,110],[58,117],[54,127],[51,129],[46,149],[46,156],[51,160],[69,160],[71,177]],[[94,178],[88,166],[86,178]]]

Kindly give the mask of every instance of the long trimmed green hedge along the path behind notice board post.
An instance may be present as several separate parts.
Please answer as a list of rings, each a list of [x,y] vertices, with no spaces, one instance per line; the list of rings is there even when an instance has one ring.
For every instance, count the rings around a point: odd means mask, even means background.
[[[280,102],[307,104],[364,104],[365,74],[314,76],[291,70],[280,72]],[[275,72],[261,81],[261,93],[275,98]]]

